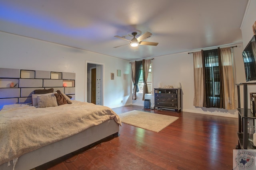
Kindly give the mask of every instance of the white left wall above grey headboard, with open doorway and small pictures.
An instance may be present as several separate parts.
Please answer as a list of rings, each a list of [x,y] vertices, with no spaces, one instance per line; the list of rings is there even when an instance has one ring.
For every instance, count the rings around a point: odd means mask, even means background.
[[[86,61],[104,63],[105,106],[131,103],[131,80],[123,78],[123,73],[130,77],[129,61],[0,31],[0,68],[75,72],[79,101],[86,98]],[[116,76],[117,69],[121,70],[121,77]],[[114,80],[110,80],[111,72],[115,73]]]

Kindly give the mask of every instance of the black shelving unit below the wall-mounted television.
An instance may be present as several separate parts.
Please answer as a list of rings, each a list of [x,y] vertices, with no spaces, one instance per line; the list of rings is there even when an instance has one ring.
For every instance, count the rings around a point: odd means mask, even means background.
[[[256,119],[255,114],[252,114],[248,108],[248,85],[256,85],[256,82],[236,84],[238,94],[238,149],[254,149],[248,140],[248,119]],[[241,108],[240,86],[243,86],[244,108]]]

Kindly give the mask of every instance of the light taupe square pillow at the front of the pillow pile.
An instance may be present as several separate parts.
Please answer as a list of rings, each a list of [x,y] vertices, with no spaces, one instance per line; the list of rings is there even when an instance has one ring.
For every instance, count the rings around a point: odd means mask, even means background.
[[[37,102],[38,102],[38,108],[58,106],[57,100],[54,94],[38,96]]]

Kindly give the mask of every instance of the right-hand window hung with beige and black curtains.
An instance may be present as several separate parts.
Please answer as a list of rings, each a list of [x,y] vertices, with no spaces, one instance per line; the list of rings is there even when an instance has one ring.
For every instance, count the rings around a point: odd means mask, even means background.
[[[194,106],[236,109],[230,48],[193,53]]]

